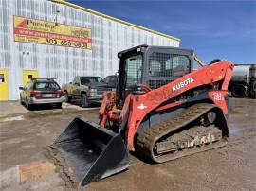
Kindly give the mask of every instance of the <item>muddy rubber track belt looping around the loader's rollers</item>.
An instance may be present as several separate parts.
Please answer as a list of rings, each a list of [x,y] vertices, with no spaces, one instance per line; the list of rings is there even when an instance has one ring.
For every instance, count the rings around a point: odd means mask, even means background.
[[[156,124],[155,126],[144,130],[137,137],[136,150],[137,153],[150,158],[155,163],[164,163],[166,161],[174,160],[183,156],[191,155],[197,152],[209,150],[212,148],[219,148],[226,145],[226,139],[206,145],[204,147],[195,147],[177,151],[174,153],[166,153],[162,155],[156,155],[154,153],[155,143],[162,137],[172,133],[174,130],[181,129],[182,127],[190,124],[192,121],[198,119],[205,113],[208,113],[213,108],[217,107],[214,104],[198,103],[192,105],[190,108],[182,113],[176,114],[173,118],[165,120]]]

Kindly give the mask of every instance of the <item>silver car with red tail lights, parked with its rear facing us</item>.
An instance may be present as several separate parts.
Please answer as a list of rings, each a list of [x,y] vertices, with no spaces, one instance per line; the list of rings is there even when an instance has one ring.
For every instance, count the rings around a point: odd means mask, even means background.
[[[54,104],[58,108],[62,107],[64,93],[52,78],[33,78],[19,89],[22,90],[20,101],[27,109],[39,104]]]

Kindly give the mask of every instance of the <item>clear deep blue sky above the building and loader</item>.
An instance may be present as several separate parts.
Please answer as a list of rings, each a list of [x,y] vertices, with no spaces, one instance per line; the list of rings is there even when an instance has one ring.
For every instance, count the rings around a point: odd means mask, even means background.
[[[256,62],[254,0],[68,1],[178,37],[206,62]]]

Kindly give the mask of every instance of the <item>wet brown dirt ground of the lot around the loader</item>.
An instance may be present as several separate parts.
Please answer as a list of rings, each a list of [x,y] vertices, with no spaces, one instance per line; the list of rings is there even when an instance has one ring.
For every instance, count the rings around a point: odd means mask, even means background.
[[[97,121],[98,109],[77,107],[17,112],[0,103],[0,189],[69,190],[46,158],[45,147],[75,117]],[[231,99],[229,144],[162,165],[131,156],[129,170],[85,190],[256,190],[256,101]],[[15,110],[13,110],[15,107]],[[10,110],[16,112],[8,112]],[[8,115],[7,115],[7,114]]]

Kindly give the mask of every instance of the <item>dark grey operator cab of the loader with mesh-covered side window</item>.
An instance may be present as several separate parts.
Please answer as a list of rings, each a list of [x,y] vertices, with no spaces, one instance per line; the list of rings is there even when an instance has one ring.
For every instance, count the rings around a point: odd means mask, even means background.
[[[119,99],[141,93],[192,72],[192,50],[168,46],[139,45],[118,53]],[[143,84],[143,85],[142,85]]]

